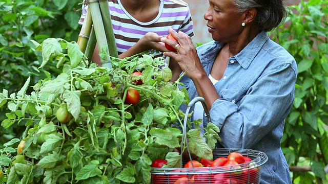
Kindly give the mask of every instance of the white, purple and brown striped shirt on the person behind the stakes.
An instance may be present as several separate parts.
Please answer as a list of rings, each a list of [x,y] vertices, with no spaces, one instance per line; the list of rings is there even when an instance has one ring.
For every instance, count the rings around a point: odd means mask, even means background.
[[[149,22],[135,19],[122,6],[120,0],[108,0],[114,29],[118,54],[130,49],[147,32],[155,32],[159,36],[167,36],[171,27],[193,36],[193,22],[187,3],[181,0],[159,0],[160,6],[156,18]],[[88,6],[83,5],[78,24],[82,25]]]

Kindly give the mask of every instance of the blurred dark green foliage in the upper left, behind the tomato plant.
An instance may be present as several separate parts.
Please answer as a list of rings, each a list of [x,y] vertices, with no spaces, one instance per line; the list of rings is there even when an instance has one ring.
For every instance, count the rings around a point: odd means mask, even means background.
[[[30,76],[36,83],[46,78],[43,72],[59,74],[56,63],[49,62],[42,69],[42,54],[34,50],[31,39],[42,42],[55,37],[77,40],[80,0],[0,0],[0,91],[17,92]],[[0,122],[8,110],[0,108]],[[19,136],[25,128],[0,127],[0,147],[6,140]]]

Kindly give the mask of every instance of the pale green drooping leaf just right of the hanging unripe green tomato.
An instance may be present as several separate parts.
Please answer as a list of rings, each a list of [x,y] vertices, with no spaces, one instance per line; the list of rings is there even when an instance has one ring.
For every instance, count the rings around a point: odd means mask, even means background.
[[[67,104],[67,110],[72,114],[75,120],[78,119],[81,112],[81,101],[80,101],[81,91],[70,91],[65,90],[63,94],[64,101]]]

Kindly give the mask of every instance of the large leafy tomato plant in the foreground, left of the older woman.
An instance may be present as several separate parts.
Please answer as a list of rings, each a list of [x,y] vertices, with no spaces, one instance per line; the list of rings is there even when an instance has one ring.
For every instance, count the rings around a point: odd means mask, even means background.
[[[55,38],[32,42],[35,50],[58,60],[62,72],[56,78],[48,75],[35,84],[28,79],[17,94],[9,94],[6,89],[0,92],[0,107],[9,107],[10,111],[2,126],[11,127],[17,122],[26,126],[22,135],[26,141],[24,155],[19,146],[20,155],[12,154],[11,162],[0,157],[0,168],[4,168],[2,163],[9,163],[5,166],[8,180],[150,183],[154,160],[168,160],[165,167],[181,166],[179,153],[173,150],[181,146],[182,131],[176,125],[183,125],[181,117],[185,113],[179,107],[189,103],[188,92],[170,81],[170,68],[161,67],[165,58],[147,53],[113,59],[113,68],[109,68],[89,63],[76,43]],[[49,52],[49,48],[54,51]],[[42,65],[47,62],[44,60]],[[132,82],[131,71],[136,70],[142,71],[141,86]],[[28,88],[32,88],[31,93]],[[138,92],[137,105],[125,104],[131,91]],[[49,118],[47,105],[54,112]],[[209,123],[204,130],[211,131],[211,135],[216,133],[215,136],[199,136],[200,129],[191,127],[192,123],[187,120],[188,139],[193,143],[190,153],[213,159],[218,130]],[[0,152],[15,150],[19,142],[20,139],[10,140]],[[10,172],[26,164],[29,169]],[[170,183],[188,177],[181,172],[172,174],[162,176],[172,179]]]

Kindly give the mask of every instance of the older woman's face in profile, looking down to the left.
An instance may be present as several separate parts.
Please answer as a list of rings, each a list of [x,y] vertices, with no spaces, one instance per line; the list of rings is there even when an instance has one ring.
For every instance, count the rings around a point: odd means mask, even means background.
[[[238,13],[233,0],[209,0],[209,8],[204,14],[212,38],[220,42],[238,39],[242,31],[242,14]]]

